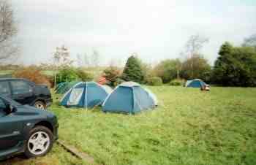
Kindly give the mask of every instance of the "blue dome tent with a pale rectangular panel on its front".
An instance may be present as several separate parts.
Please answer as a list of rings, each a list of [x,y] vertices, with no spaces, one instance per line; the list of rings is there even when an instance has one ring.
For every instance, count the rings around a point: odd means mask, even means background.
[[[64,94],[61,105],[65,107],[93,108],[101,105],[110,89],[97,82],[78,82]]]

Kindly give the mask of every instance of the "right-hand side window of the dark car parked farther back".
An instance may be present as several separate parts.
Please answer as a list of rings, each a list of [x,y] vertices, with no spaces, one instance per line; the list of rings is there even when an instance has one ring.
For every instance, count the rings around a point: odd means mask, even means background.
[[[31,87],[29,83],[21,80],[11,81],[12,85],[12,93],[13,94],[22,94],[22,93],[29,93]]]

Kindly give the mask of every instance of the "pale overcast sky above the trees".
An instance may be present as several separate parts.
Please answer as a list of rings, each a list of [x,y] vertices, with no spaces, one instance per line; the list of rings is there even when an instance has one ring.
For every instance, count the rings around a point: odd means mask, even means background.
[[[12,0],[12,7],[18,63],[26,65],[51,61],[61,45],[73,59],[97,50],[101,65],[124,64],[132,53],[156,64],[179,58],[195,34],[208,37],[201,53],[212,65],[223,42],[256,34],[255,0]]]

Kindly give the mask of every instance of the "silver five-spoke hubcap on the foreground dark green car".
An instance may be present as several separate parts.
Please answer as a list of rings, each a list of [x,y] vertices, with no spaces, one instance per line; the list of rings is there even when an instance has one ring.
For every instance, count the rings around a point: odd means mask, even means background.
[[[29,138],[29,151],[34,155],[45,153],[50,146],[50,137],[43,131],[38,131]]]

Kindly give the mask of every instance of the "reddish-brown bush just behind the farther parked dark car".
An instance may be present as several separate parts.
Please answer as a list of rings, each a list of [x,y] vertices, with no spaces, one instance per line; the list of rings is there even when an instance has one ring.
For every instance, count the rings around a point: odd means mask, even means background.
[[[15,71],[12,74],[13,77],[25,78],[36,84],[45,84],[48,87],[52,87],[50,79],[41,73],[41,71],[33,66],[23,68],[21,70]]]

